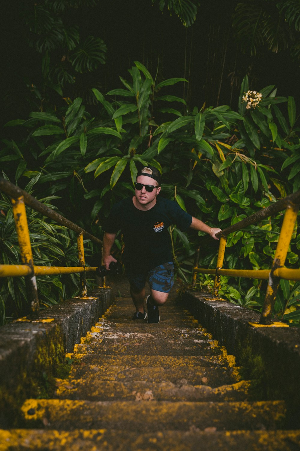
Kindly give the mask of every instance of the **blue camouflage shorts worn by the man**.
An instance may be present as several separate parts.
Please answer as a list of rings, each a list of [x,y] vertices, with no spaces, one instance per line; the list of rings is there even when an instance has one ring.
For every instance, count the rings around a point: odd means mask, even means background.
[[[138,272],[138,270],[131,270],[126,272],[126,277],[133,291],[139,292],[143,290],[147,277],[149,277],[149,285],[152,290],[169,293],[174,284],[174,265],[173,262],[167,262],[150,271]]]

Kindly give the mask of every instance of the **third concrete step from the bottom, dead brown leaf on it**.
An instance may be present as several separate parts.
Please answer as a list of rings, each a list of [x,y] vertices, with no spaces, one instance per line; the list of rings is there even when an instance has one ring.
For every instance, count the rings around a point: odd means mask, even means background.
[[[186,379],[179,379],[175,383],[168,380],[119,382],[103,381],[93,376],[57,380],[55,397],[89,401],[242,401],[249,400],[251,393],[251,383],[248,381],[212,388],[203,384],[188,384]]]

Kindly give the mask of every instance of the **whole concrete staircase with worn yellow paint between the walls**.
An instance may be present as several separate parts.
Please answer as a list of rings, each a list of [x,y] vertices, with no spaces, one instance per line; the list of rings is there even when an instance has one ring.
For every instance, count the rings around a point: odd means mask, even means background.
[[[282,400],[257,399],[234,356],[171,301],[161,322],[132,321],[118,298],[75,345],[54,399],[29,399],[12,450],[299,450]]]

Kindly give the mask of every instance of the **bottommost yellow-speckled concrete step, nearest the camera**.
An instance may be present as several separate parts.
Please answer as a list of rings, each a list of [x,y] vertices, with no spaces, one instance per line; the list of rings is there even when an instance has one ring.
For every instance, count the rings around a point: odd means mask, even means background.
[[[300,431],[164,430],[154,433],[107,429],[0,430],[0,451],[287,451],[298,450]]]

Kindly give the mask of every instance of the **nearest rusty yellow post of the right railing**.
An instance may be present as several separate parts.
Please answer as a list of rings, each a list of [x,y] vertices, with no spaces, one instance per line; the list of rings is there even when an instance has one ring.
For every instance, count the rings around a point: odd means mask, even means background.
[[[292,202],[288,203],[280,230],[275,257],[269,275],[269,283],[267,287],[266,297],[264,299],[262,313],[260,316],[260,324],[270,324],[272,322],[271,313],[275,304],[280,281],[280,278],[276,277],[273,273],[277,268],[283,267],[286,261],[287,251],[291,242],[291,236],[297,219],[298,210],[299,204],[294,204]]]

